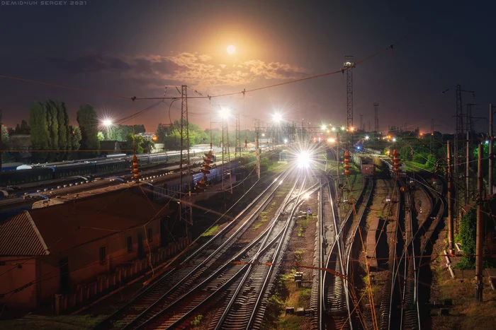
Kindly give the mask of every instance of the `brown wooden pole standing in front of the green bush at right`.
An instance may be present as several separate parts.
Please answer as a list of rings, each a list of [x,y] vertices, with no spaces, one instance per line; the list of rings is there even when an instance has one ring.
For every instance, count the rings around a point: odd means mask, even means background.
[[[492,109],[491,109],[492,111]],[[483,145],[479,144],[477,162],[477,236],[475,237],[475,302],[483,302]]]

